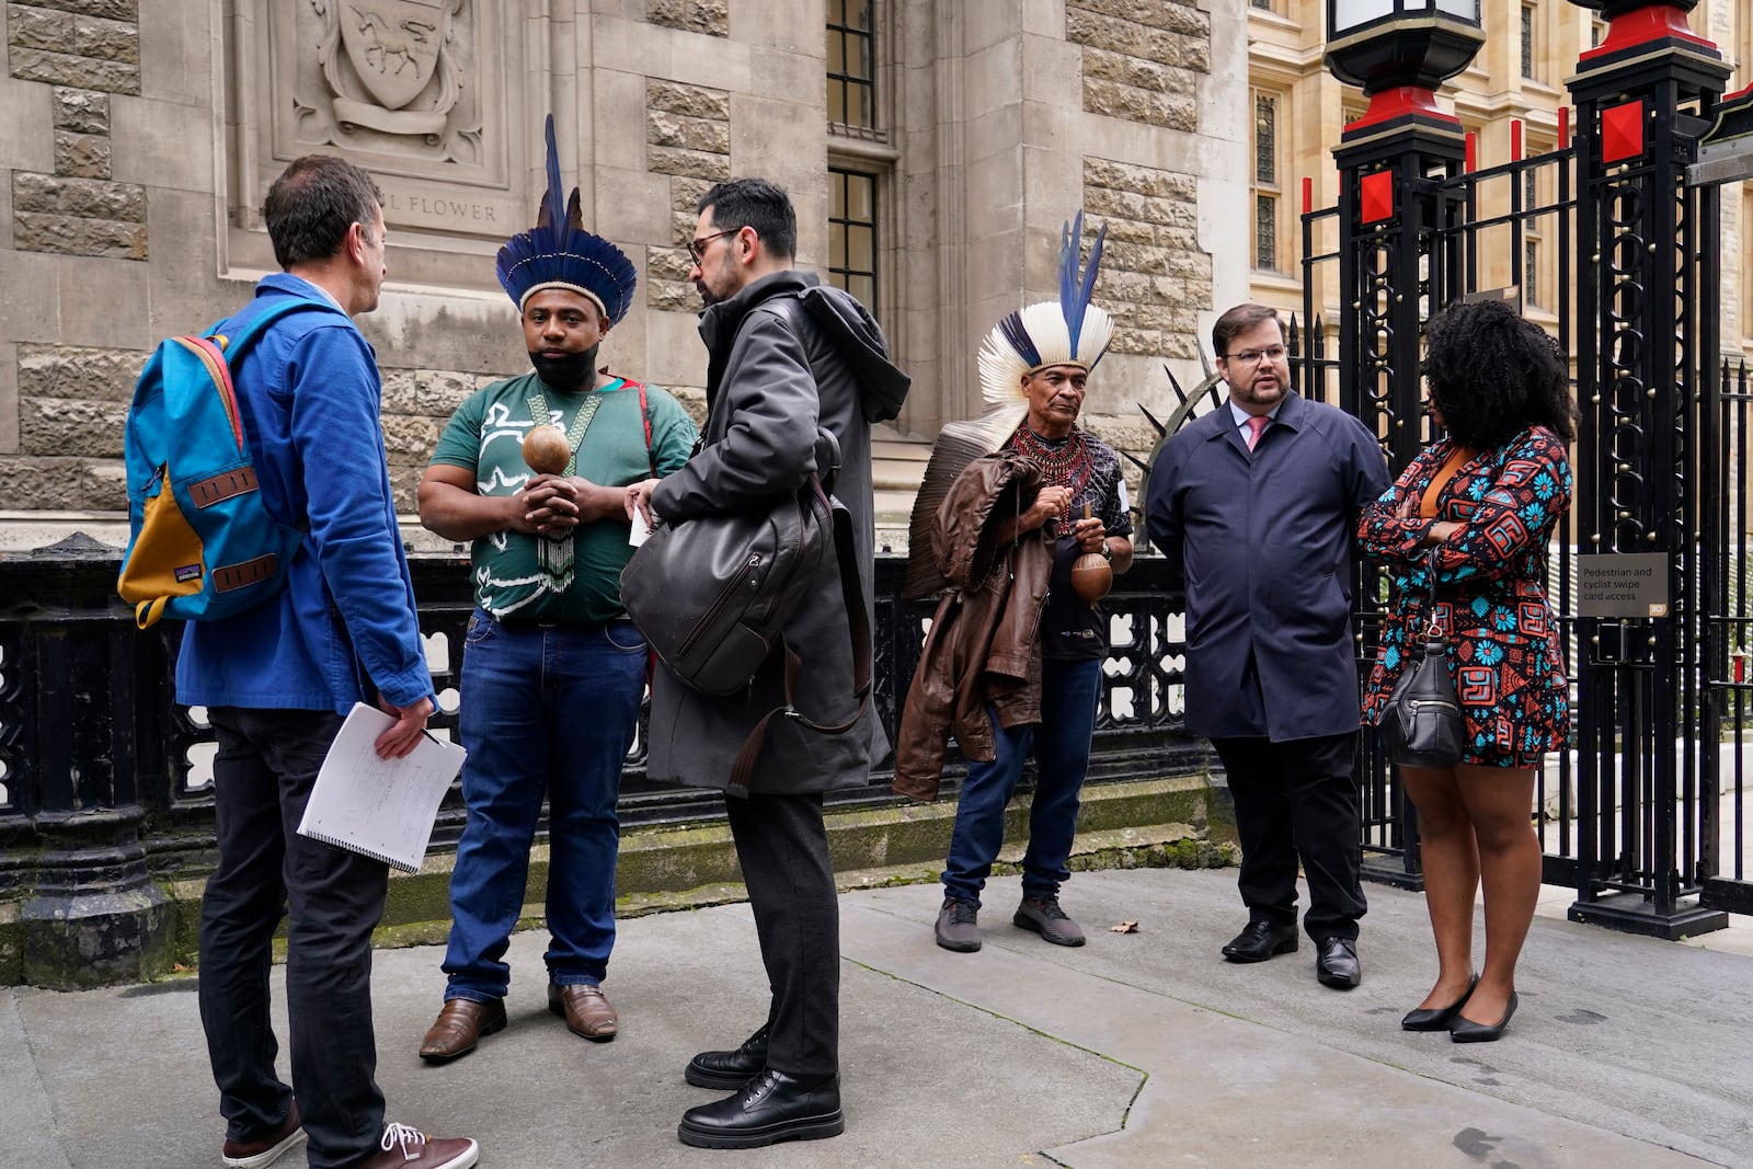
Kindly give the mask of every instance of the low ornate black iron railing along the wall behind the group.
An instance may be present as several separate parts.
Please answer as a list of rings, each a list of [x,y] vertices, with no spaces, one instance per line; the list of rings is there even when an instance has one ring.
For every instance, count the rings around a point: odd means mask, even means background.
[[[1204,743],[1183,731],[1180,596],[1164,568],[1141,557],[1104,601],[1113,648],[1094,778],[1157,778],[1206,762]],[[177,627],[137,631],[116,599],[116,549],[79,536],[0,556],[0,894],[95,894],[212,862],[212,731],[200,708],[174,699]],[[891,740],[931,615],[899,599],[903,575],[905,561],[878,559],[875,701]],[[440,705],[433,729],[449,734],[472,608],[468,561],[415,556],[414,584]],[[643,752],[642,734],[622,778],[624,824],[722,815],[715,792],[649,780]],[[948,792],[959,776],[952,762]],[[892,803],[889,778],[884,761],[868,787],[833,803]],[[435,843],[454,843],[461,827],[452,789]]]

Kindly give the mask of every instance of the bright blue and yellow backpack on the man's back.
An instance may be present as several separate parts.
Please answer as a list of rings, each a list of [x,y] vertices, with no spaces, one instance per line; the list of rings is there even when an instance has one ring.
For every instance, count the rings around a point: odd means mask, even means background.
[[[328,305],[284,298],[230,337],[228,321],[202,337],[172,337],[135,384],[124,436],[128,550],[116,591],[142,629],[165,617],[230,617],[286,587],[303,533],[261,505],[230,366],[273,321],[302,308]]]

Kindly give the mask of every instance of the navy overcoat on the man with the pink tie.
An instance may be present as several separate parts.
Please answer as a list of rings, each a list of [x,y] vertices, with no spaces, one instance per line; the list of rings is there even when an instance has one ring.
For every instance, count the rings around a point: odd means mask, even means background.
[[[1145,522],[1187,580],[1189,731],[1274,743],[1357,731],[1352,540],[1387,487],[1364,424],[1297,394],[1252,452],[1229,403],[1162,447]]]

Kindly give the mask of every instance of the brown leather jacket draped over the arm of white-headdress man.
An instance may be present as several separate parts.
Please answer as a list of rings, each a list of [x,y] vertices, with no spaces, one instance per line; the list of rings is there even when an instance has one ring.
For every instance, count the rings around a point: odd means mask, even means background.
[[[931,533],[950,591],[938,601],[901,708],[894,790],[936,799],[954,731],[962,755],[992,759],[992,724],[1041,720],[1041,608],[1054,573],[1052,526],[999,542],[999,529],[1034,503],[1040,471],[1015,454],[975,459],[955,477]]]

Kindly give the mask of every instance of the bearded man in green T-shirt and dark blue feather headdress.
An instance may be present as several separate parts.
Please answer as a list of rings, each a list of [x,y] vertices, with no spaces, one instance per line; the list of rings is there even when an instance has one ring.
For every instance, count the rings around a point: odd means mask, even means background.
[[[615,943],[615,801],[645,680],[645,640],[621,606],[631,556],[626,485],[687,461],[696,429],[664,391],[598,372],[633,301],[621,251],[563,203],[554,121],[536,226],[500,251],[535,373],[475,391],[419,489],[421,522],[473,542],[475,612],[459,729],[468,822],[451,875],[444,1010],[421,1059],[444,1062],[505,1027],[505,950],[524,904],[529,845],[549,801],[547,1004],[578,1036],[615,1038],[603,995]],[[561,473],[531,473],[524,436],[557,426]]]

